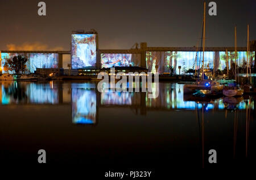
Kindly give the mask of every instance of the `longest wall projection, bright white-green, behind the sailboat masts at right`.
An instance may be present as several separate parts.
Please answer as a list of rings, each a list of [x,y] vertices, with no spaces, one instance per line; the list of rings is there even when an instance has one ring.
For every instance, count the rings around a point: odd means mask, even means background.
[[[195,64],[195,59],[197,56],[197,63]],[[226,57],[228,56],[229,69],[235,61],[235,52],[204,52],[204,66],[208,66],[210,69],[214,68],[224,70],[226,68]],[[201,57],[201,61],[200,60]],[[146,66],[148,72],[156,73],[155,67],[158,66],[157,71],[159,73],[171,73],[171,67],[174,70],[174,74],[179,74],[179,66],[181,66],[180,73],[186,74],[188,69],[199,69],[202,66],[203,52],[195,51],[166,51],[166,52],[156,52],[147,51],[146,52]],[[247,52],[240,51],[237,52],[237,62],[238,66],[242,67],[247,60]],[[249,52],[249,61],[251,65],[254,65],[255,52]]]

